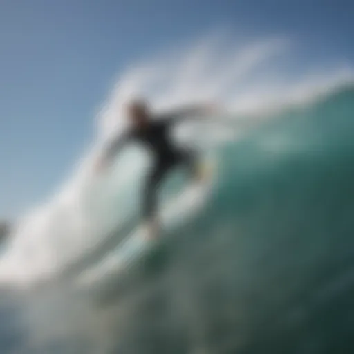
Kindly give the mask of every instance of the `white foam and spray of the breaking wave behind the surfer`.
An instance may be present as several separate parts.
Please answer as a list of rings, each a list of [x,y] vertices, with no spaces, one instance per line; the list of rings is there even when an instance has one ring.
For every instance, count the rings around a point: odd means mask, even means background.
[[[127,151],[106,178],[93,174],[93,162],[111,137],[124,129],[124,121],[117,117],[130,97],[148,97],[158,110],[220,102],[243,129],[257,125],[259,117],[263,122],[279,109],[309,104],[354,82],[354,69],[348,64],[332,68],[317,64],[315,71],[304,68],[297,77],[281,71],[291,48],[292,42],[283,36],[234,44],[213,34],[122,73],[97,116],[97,138],[73,176],[48,203],[22,218],[12,233],[0,259],[0,282],[28,285],[55,278],[68,263],[95,248],[113,225],[127,220],[136,205],[119,205],[117,199],[135,200],[132,186],[147,159],[139,151]],[[216,140],[222,143],[223,138]]]

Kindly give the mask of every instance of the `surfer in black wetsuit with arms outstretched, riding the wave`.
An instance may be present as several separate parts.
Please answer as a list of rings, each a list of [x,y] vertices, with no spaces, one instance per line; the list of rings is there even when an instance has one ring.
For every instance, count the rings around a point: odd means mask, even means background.
[[[129,129],[115,137],[103,156],[97,162],[97,168],[104,169],[114,156],[128,142],[139,142],[151,151],[153,166],[145,179],[142,196],[142,218],[147,225],[149,237],[158,234],[159,222],[156,215],[158,188],[171,169],[181,166],[187,169],[189,176],[200,180],[203,176],[198,168],[198,157],[192,149],[176,147],[169,133],[171,127],[184,118],[207,115],[211,113],[210,106],[196,105],[179,109],[158,116],[153,116],[147,102],[135,100],[127,105]]]

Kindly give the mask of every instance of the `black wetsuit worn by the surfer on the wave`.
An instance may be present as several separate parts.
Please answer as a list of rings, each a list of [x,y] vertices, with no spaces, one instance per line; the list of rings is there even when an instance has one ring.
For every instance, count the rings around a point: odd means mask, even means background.
[[[155,216],[158,187],[167,172],[179,165],[185,165],[194,174],[195,154],[191,150],[176,147],[170,138],[171,127],[188,113],[192,112],[180,112],[152,120],[142,129],[131,129],[111,146],[111,153],[114,153],[127,142],[139,142],[152,153],[153,167],[145,180],[142,201],[142,216],[145,219],[150,220]]]

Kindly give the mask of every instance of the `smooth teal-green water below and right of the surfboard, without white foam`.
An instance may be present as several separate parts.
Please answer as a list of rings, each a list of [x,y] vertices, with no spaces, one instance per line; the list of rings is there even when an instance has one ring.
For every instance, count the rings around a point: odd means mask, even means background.
[[[211,198],[140,261],[73,286],[132,218],[62,277],[1,285],[0,352],[353,353],[354,88],[278,114],[215,148]]]

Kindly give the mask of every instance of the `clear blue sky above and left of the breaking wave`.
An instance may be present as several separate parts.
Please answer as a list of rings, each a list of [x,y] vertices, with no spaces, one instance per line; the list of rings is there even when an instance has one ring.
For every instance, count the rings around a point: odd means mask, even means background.
[[[2,0],[0,218],[50,195],[130,62],[221,26],[286,34],[306,60],[354,61],[351,0]]]

